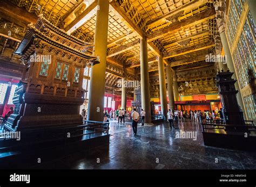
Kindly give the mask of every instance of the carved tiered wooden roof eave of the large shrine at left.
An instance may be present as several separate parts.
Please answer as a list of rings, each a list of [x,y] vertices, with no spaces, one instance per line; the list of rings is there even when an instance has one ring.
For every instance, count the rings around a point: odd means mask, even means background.
[[[15,54],[22,55],[21,60],[28,60],[30,55],[35,52],[35,48],[46,48],[48,52],[55,52],[55,54],[61,54],[62,57],[67,57],[79,63],[98,63],[97,56],[93,56],[90,54],[84,53],[83,49],[86,50],[86,42],[84,42],[83,46],[76,44],[73,40],[69,40],[68,34],[62,34],[60,30],[55,28],[56,32],[53,32],[51,28],[53,25],[48,23],[49,25],[44,25],[42,18],[39,18],[36,25],[28,25],[28,31],[25,34],[25,37],[17,47]],[[51,32],[50,32],[51,30]],[[62,34],[59,35],[58,33]]]

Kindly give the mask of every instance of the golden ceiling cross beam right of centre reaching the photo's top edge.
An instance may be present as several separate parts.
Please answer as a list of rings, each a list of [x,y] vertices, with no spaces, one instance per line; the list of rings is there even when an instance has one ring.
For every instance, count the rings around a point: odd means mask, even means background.
[[[179,8],[176,8],[173,11],[166,13],[163,16],[160,16],[157,19],[147,22],[146,26],[148,26],[150,28],[154,27],[154,25],[156,25],[156,24],[161,24],[163,22],[166,22],[165,19],[168,17],[174,16],[177,13],[184,11],[184,10],[192,10],[192,9],[198,8],[198,6],[203,5],[205,3],[207,3],[207,0],[194,0],[194,1],[188,2],[188,3],[184,4],[183,6],[180,6]]]

